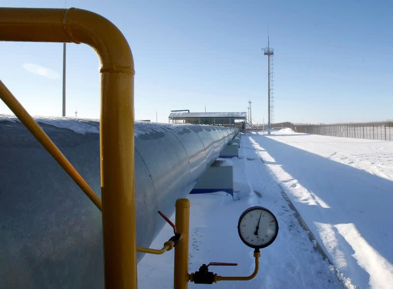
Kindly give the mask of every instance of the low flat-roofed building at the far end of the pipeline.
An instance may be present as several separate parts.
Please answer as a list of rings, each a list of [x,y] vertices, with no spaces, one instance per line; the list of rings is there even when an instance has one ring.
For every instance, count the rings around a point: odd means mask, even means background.
[[[237,127],[244,129],[246,112],[232,113],[190,113],[190,111],[171,111],[169,123],[192,123]]]

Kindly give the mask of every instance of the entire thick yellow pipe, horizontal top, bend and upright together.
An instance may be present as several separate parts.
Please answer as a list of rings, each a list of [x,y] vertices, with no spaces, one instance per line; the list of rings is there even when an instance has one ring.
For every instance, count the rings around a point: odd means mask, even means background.
[[[0,41],[91,46],[101,72],[100,162],[107,288],[137,288],[134,60],[109,20],[81,9],[0,8]]]

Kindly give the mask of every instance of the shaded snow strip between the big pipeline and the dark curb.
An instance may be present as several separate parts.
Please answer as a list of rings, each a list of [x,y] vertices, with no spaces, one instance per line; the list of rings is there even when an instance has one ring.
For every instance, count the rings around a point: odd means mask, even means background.
[[[248,276],[253,272],[253,250],[243,244],[237,232],[237,221],[248,207],[260,205],[277,217],[280,230],[272,245],[261,249],[260,269],[247,282],[221,281],[213,285],[189,283],[189,288],[344,288],[348,280],[339,280],[337,269],[309,240],[295,211],[281,195],[281,187],[260,160],[259,149],[252,138],[243,136],[239,158],[230,162],[234,170],[234,197],[224,192],[189,195],[190,251],[189,272],[203,263],[237,262],[238,266],[214,266],[210,271],[222,276]],[[174,220],[174,215],[171,216]],[[166,225],[151,244],[161,248],[173,234]],[[173,250],[160,256],[146,254],[138,264],[139,288],[173,288]],[[353,286],[352,286],[353,288]]]

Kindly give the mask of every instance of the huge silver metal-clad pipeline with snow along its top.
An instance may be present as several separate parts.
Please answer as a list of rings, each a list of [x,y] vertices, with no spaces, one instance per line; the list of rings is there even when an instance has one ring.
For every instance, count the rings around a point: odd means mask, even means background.
[[[35,120],[101,198],[99,122]],[[176,199],[193,189],[236,131],[136,122],[138,246],[150,246],[165,223],[157,211],[171,216]],[[103,288],[97,207],[16,118],[0,116],[0,160],[0,280],[18,288]]]

